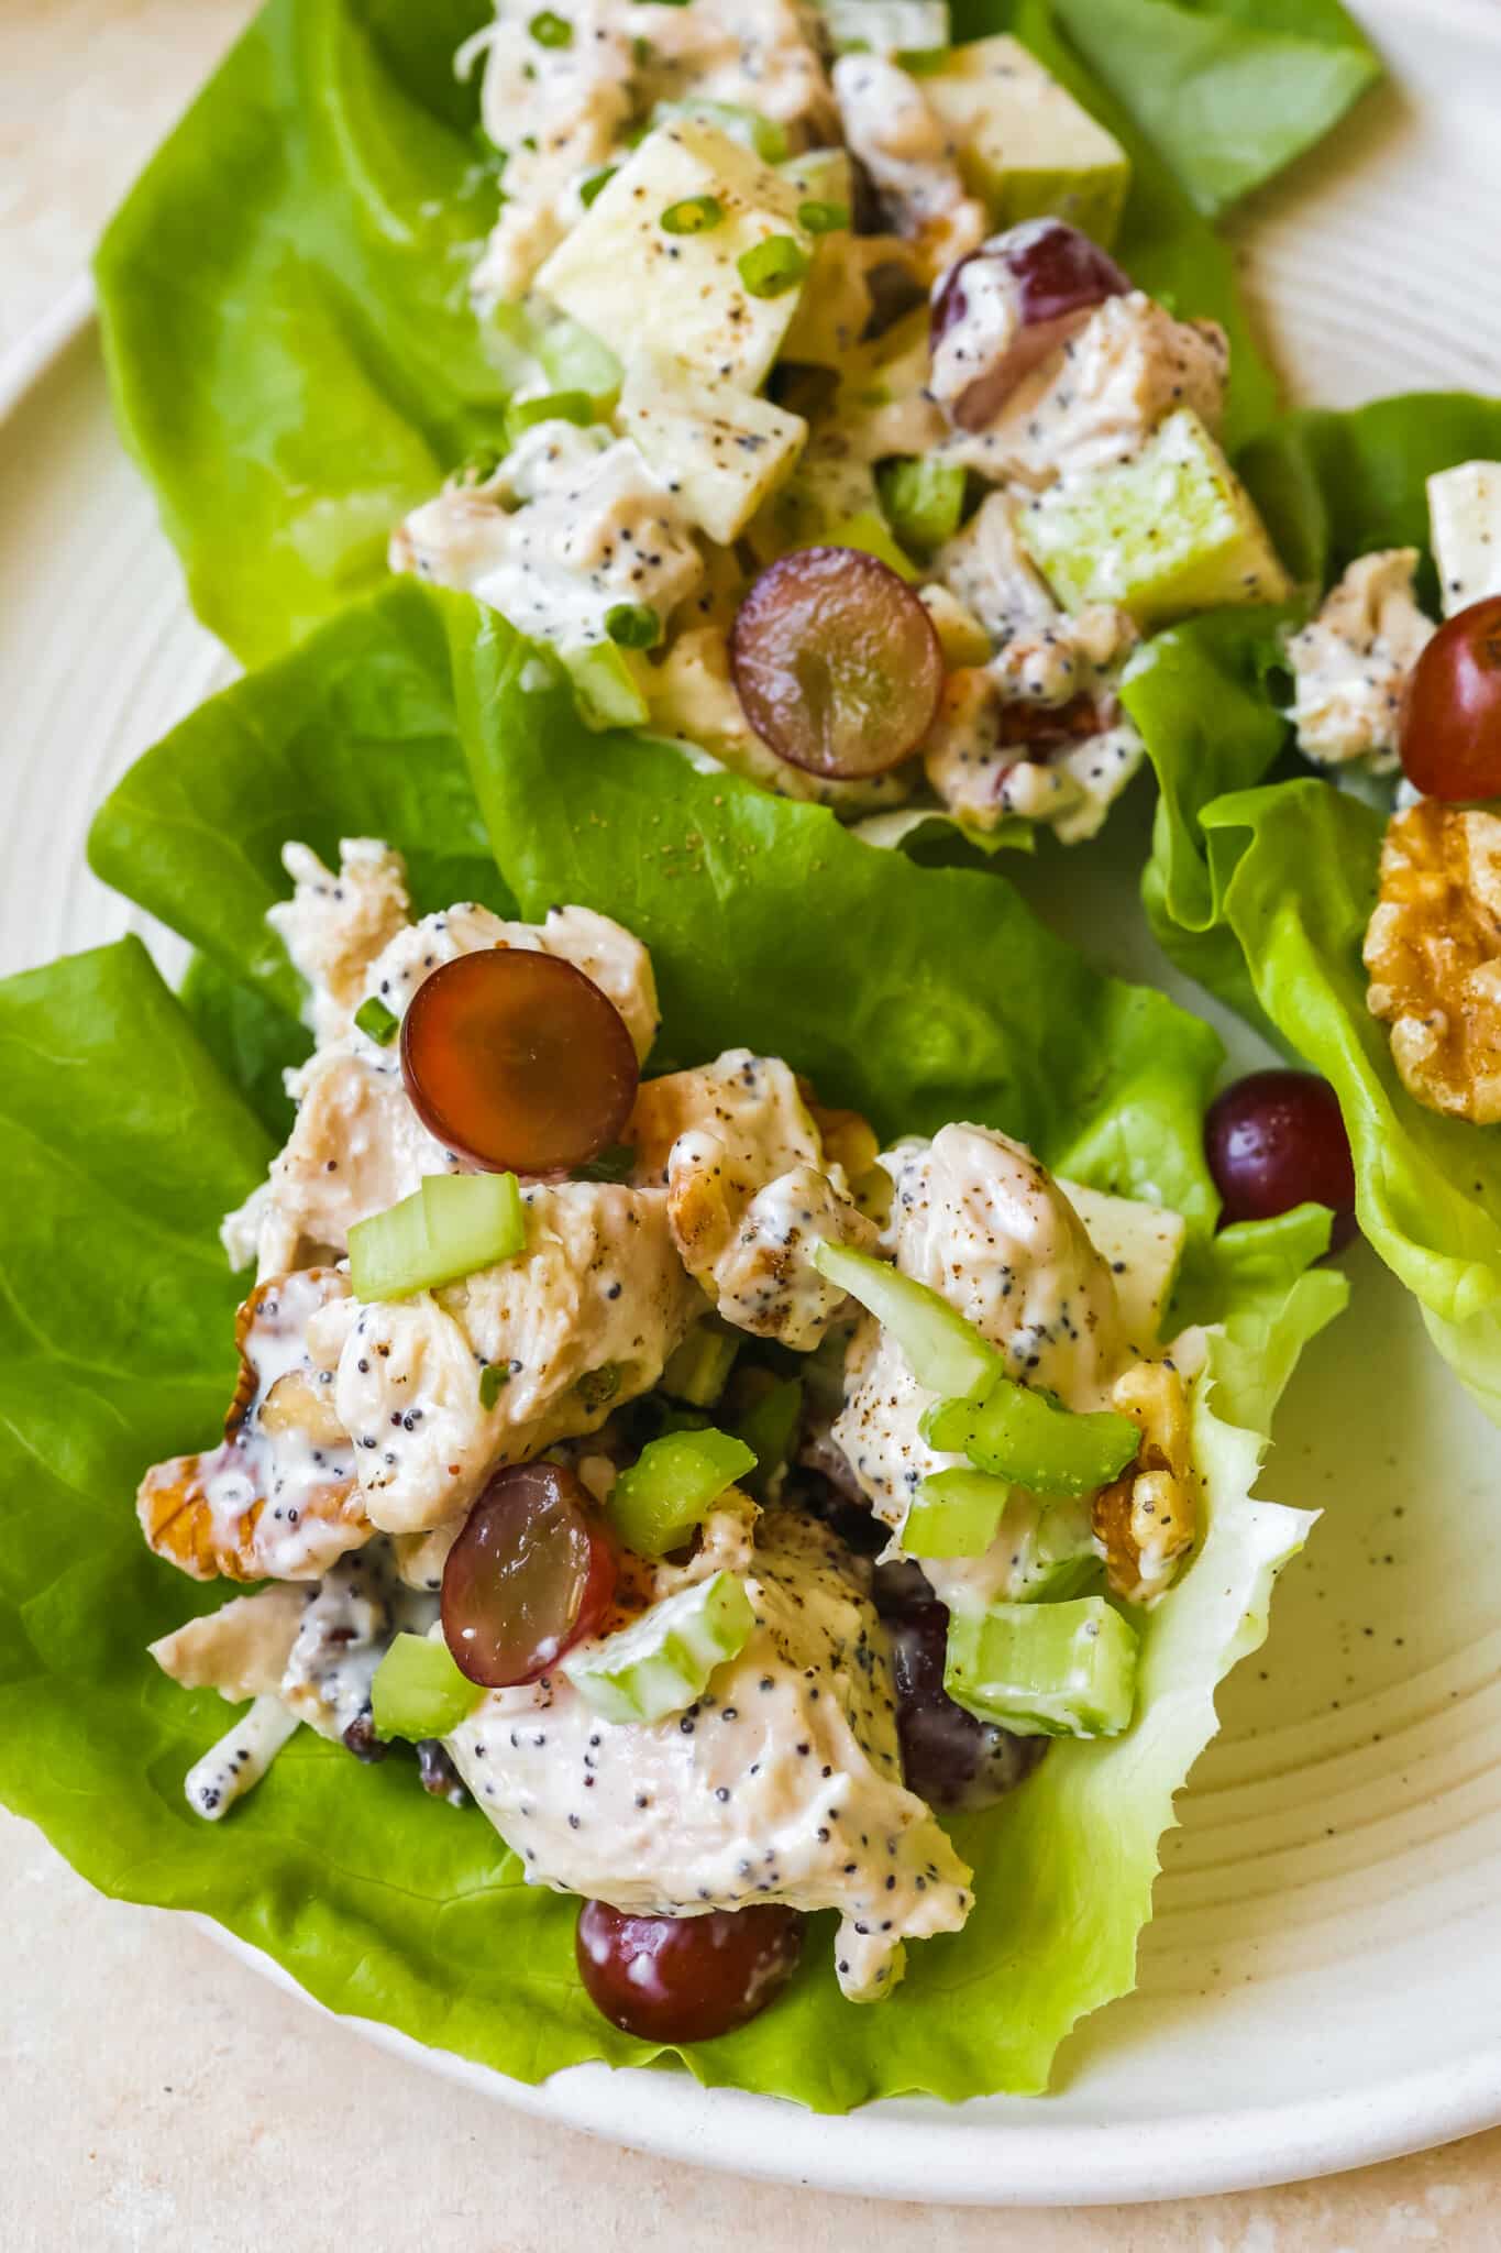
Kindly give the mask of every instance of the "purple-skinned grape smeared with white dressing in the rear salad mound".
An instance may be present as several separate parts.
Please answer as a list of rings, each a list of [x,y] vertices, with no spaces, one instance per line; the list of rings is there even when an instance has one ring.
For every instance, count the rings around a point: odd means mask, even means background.
[[[1116,261],[1062,219],[1024,219],[992,234],[934,288],[934,399],[961,430],[983,430],[1049,351],[1130,286]]]

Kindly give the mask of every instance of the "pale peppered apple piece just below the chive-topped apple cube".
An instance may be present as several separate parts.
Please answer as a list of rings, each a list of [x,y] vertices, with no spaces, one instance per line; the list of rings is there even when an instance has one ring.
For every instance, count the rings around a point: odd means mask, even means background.
[[[808,424],[731,383],[641,354],[626,369],[617,424],[671,484],[689,523],[729,545],[792,471]]]

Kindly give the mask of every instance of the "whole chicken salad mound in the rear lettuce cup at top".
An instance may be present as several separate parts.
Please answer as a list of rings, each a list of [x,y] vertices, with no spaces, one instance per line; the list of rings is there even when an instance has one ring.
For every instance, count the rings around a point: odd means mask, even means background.
[[[590,725],[875,843],[1094,836],[1141,635],[1289,593],[1224,329],[1109,255],[1118,142],[941,0],[500,0],[477,68],[515,381],[392,566],[558,649]]]

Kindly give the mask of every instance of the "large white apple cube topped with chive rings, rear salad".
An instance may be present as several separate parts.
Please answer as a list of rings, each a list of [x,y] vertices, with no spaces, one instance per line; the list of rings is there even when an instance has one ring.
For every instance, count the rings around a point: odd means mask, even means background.
[[[781,351],[801,279],[763,297],[745,286],[738,261],[772,237],[790,237],[812,261],[801,201],[718,126],[680,117],[648,133],[605,182],[536,288],[626,365],[657,336],[695,379],[754,392]]]

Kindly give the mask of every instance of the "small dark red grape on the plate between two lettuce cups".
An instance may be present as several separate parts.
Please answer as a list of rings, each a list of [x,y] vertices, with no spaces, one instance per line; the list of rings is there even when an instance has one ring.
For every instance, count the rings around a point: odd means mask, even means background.
[[[1355,1163],[1328,1079],[1249,1072],[1208,1106],[1204,1154],[1222,1221],[1269,1221],[1312,1199],[1334,1212],[1330,1250],[1355,1235]]]

